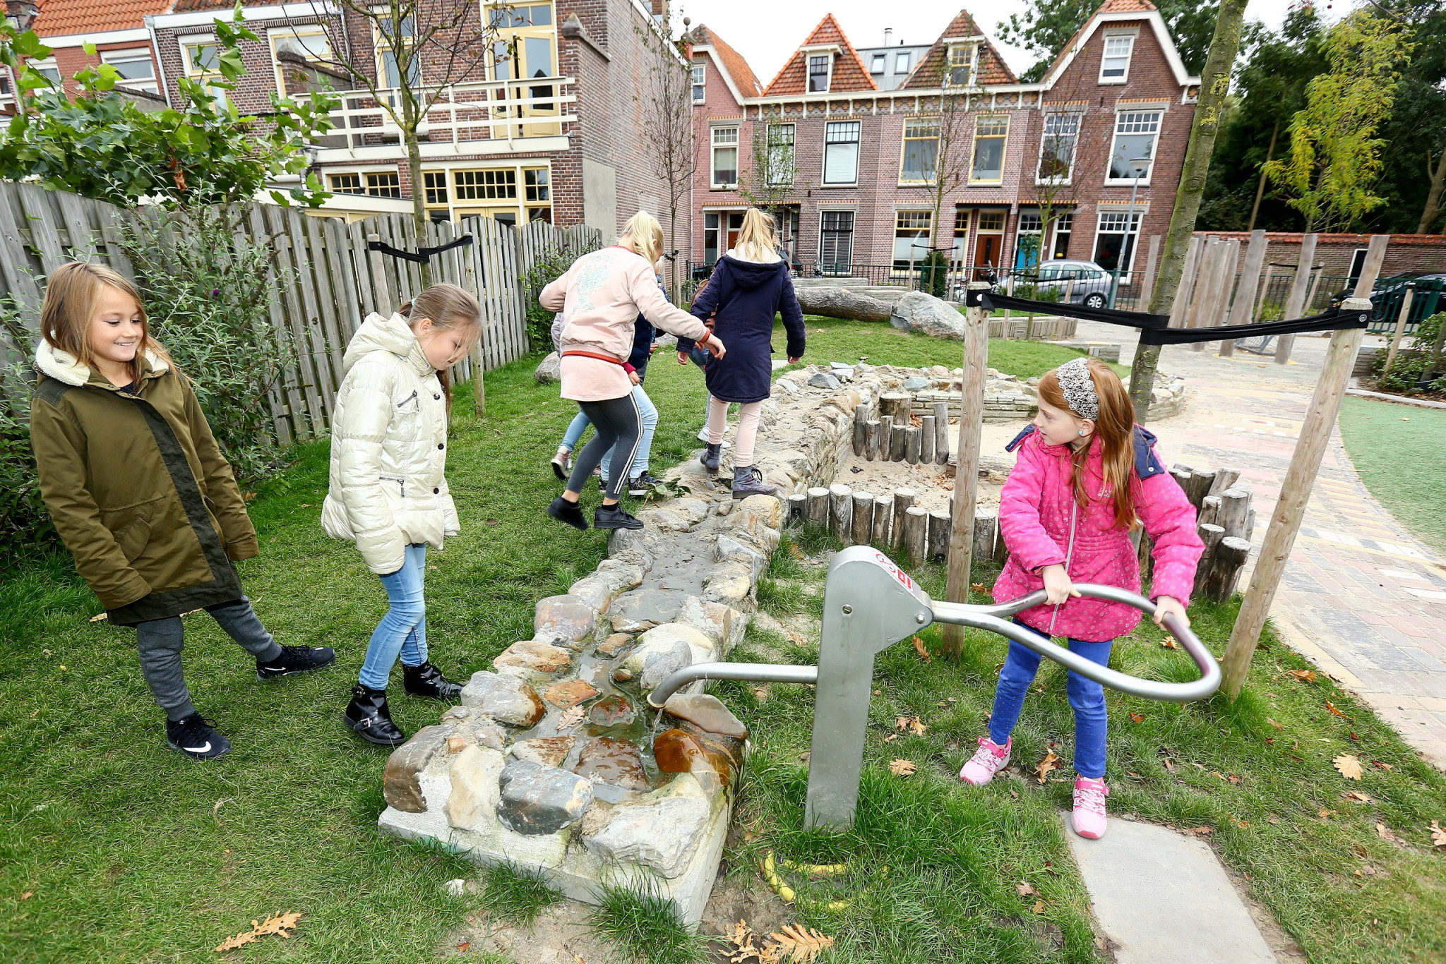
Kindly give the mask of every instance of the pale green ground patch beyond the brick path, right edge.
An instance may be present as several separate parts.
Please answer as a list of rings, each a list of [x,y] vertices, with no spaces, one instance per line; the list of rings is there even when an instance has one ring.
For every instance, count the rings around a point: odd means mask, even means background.
[[[1430,455],[1446,449],[1446,409],[1346,397],[1340,438],[1377,502],[1421,542],[1446,552],[1440,458]]]

